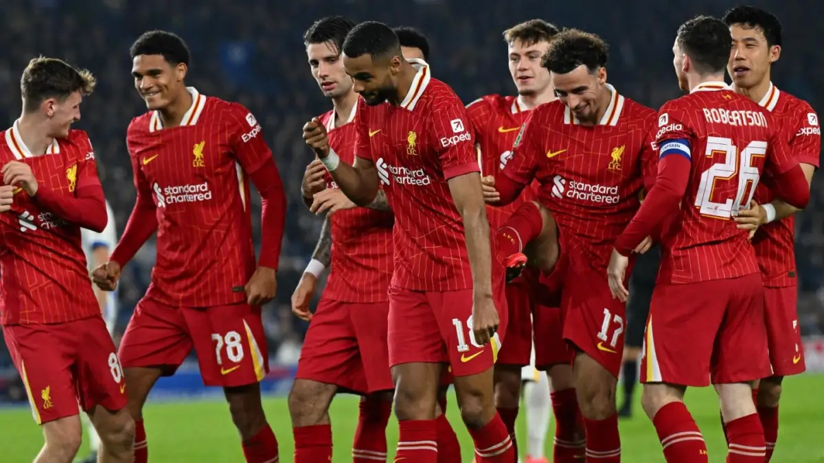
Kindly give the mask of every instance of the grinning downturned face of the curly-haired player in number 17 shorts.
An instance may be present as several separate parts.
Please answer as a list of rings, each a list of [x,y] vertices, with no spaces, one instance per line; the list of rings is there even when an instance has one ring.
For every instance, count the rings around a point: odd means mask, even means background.
[[[578,120],[595,123],[598,97],[606,91],[606,68],[590,72],[583,64],[565,74],[550,73],[555,96],[564,102]]]

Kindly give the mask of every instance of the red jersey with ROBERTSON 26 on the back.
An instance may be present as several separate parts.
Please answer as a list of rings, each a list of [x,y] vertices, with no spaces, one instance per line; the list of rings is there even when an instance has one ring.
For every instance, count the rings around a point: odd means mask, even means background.
[[[701,84],[668,101],[658,115],[658,147],[691,159],[681,212],[662,232],[661,283],[736,278],[759,271],[747,232],[733,217],[746,208],[765,168],[796,162],[768,110],[723,82]]]

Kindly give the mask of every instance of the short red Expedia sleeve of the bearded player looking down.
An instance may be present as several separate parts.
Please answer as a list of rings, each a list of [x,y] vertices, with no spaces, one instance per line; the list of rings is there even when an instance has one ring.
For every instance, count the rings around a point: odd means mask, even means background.
[[[480,172],[475,156],[475,138],[467,129],[468,120],[466,109],[457,99],[440,102],[430,116],[431,143],[438,153],[445,180]]]

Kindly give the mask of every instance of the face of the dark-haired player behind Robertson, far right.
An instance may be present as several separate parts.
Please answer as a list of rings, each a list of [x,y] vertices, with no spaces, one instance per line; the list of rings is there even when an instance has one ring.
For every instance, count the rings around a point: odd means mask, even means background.
[[[733,24],[729,28],[733,36],[733,48],[729,54],[727,72],[737,87],[755,87],[770,79],[770,67],[780,57],[781,47],[767,43],[761,27],[743,27]]]

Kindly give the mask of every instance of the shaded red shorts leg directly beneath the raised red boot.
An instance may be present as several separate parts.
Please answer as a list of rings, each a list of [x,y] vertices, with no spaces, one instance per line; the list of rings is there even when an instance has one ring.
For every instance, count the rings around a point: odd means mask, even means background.
[[[507,344],[502,345],[498,353],[500,365],[526,367],[530,364],[532,355],[532,302],[535,299],[537,283],[532,269],[524,270],[520,278],[506,285],[506,297],[509,316],[507,332],[504,338]]]

